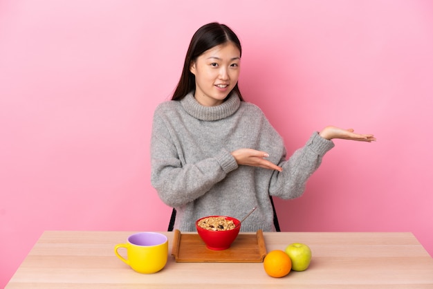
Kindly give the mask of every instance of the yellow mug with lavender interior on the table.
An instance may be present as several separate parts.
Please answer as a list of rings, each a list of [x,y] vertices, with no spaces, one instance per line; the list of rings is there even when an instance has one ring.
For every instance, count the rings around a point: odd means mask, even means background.
[[[127,259],[120,256],[119,248],[127,249]],[[151,274],[162,270],[167,263],[168,239],[164,234],[140,232],[129,236],[128,243],[116,245],[114,252],[136,272]]]

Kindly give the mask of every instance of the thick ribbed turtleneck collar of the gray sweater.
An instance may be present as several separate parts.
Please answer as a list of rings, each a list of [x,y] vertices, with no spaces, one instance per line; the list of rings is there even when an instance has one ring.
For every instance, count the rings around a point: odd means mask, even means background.
[[[194,98],[194,92],[188,93],[183,100],[181,100],[183,109],[187,111],[194,118],[205,121],[221,120],[232,115],[239,106],[241,105],[241,100],[236,93],[230,93],[228,100],[225,100],[222,104],[217,106],[203,106],[199,104]]]

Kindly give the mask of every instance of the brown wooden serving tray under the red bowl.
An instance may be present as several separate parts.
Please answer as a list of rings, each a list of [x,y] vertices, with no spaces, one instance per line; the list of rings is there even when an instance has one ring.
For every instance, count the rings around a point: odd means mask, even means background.
[[[256,234],[239,233],[230,248],[220,251],[206,248],[197,233],[174,230],[172,255],[176,262],[260,263],[266,256],[266,246],[261,230]]]

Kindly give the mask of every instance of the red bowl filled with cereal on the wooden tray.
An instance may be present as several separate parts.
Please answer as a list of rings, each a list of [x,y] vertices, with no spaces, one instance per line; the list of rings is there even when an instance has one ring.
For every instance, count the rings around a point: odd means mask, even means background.
[[[230,216],[205,216],[196,221],[197,232],[210,250],[230,248],[241,230],[241,222]]]

